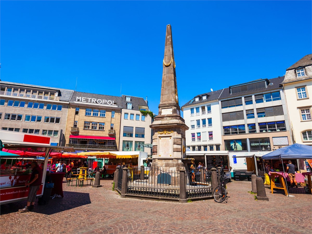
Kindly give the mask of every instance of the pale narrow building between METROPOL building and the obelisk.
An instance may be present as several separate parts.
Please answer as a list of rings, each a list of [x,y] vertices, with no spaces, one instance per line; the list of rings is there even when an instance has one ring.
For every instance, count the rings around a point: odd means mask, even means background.
[[[152,117],[148,102],[140,97],[122,95],[120,121],[120,151],[144,151],[151,155],[151,148],[143,145],[151,144]],[[152,113],[152,112],[150,112]]]

